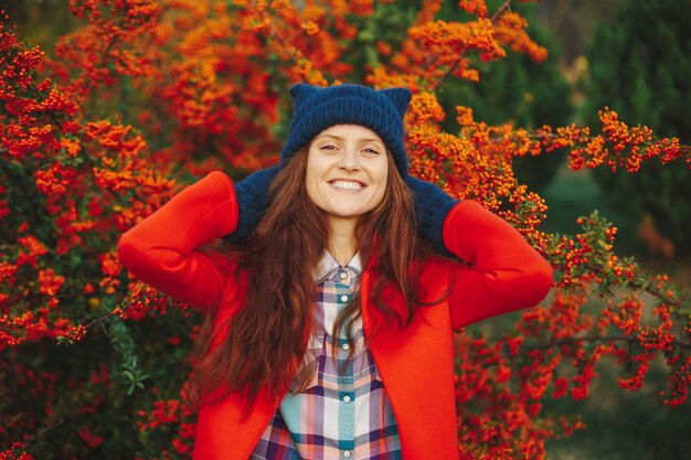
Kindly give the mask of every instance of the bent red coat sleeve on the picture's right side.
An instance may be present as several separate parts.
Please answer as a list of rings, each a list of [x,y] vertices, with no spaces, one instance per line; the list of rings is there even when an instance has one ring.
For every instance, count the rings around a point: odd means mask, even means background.
[[[470,264],[451,268],[454,329],[534,307],[550,291],[550,264],[508,222],[477,202],[455,205],[443,232],[446,248]]]

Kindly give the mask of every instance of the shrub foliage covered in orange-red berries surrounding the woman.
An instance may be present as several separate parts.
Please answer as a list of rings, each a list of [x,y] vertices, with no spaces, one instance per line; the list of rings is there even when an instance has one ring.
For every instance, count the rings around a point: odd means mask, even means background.
[[[542,232],[544,201],[511,163],[567,151],[573,169],[688,171],[689,147],[607,108],[593,130],[527,130],[457,106],[456,127],[442,129],[446,81],[477,82],[508,52],[540,62],[545,49],[511,0],[461,0],[463,21],[436,20],[438,0],[398,3],[71,0],[83,26],[54,58],[1,25],[0,458],[190,457],[195,417],[180,362],[200,319],[129,276],[115,247],[203,173],[274,163],[298,81],[412,88],[412,172],[499,213],[554,267],[553,297],[514,332],[456,338],[460,458],[545,458],[545,440],[583,424],[543,403],[588,397],[605,355],[630,391],[660,356],[660,397],[684,403],[688,292],[617,257],[616,228],[596,213],[574,236]],[[411,11],[405,28],[368,25],[384,21],[381,9]],[[593,297],[596,314],[583,309]]]

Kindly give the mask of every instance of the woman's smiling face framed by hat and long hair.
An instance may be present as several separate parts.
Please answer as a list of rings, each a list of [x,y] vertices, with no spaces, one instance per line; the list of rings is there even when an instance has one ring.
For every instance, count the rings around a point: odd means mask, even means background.
[[[307,194],[329,221],[357,222],[383,200],[389,154],[381,138],[359,125],[334,125],[309,146]]]

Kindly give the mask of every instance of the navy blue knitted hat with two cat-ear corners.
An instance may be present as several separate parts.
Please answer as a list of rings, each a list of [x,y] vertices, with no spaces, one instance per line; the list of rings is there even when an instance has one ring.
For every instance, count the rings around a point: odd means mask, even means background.
[[[361,125],[376,132],[393,154],[401,176],[408,173],[403,142],[403,116],[411,101],[407,88],[375,90],[360,85],[290,88],[295,113],[280,160],[286,161],[319,132],[333,125]]]

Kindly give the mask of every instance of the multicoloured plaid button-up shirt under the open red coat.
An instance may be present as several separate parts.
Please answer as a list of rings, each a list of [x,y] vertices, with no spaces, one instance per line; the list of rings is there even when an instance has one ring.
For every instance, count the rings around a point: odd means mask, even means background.
[[[316,275],[315,320],[321,334],[310,338],[298,375],[313,378],[299,394],[288,393],[252,460],[358,459],[400,460],[396,420],[370,351],[364,346],[362,321],[353,323],[355,352],[348,357],[346,335],[332,335],[341,308],[360,290],[362,268],[357,254],[341,267],[329,253]],[[334,363],[331,344],[338,341]]]

